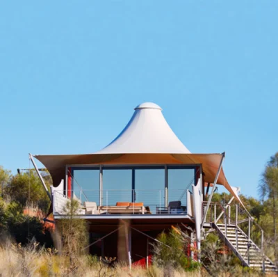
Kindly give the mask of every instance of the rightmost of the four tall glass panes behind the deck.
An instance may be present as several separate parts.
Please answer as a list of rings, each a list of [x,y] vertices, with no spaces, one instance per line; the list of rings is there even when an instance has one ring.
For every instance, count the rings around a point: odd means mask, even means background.
[[[181,201],[186,206],[186,191],[192,191],[194,169],[168,168],[168,202]]]

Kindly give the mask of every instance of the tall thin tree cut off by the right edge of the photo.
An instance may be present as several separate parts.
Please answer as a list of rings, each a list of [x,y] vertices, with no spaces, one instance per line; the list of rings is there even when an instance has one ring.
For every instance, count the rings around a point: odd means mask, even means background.
[[[272,235],[275,248],[275,260],[277,260],[277,204],[278,204],[278,152],[270,157],[263,171],[261,183],[259,184],[261,199],[268,198],[272,214]]]

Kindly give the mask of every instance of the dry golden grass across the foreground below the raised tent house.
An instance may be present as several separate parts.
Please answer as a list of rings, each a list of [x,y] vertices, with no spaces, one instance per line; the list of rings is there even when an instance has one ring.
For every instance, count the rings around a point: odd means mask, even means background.
[[[76,258],[75,266],[70,267],[69,259],[58,255],[51,249],[40,249],[32,242],[29,246],[7,243],[0,247],[0,276],[90,276],[90,277],[182,277],[201,276],[199,271],[186,273],[185,271],[163,270],[152,266],[149,269],[126,265],[108,267],[97,258],[88,256]],[[202,274],[202,276],[204,276]]]

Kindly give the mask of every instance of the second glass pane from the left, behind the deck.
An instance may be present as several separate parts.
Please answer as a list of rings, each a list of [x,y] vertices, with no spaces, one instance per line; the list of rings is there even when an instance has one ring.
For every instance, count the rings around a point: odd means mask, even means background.
[[[131,202],[132,199],[132,170],[109,169],[103,170],[102,204],[115,206],[117,202]]]

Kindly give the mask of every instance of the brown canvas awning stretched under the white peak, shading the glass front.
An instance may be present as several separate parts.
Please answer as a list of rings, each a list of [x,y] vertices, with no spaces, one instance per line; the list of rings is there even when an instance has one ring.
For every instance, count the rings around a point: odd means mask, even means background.
[[[161,164],[202,164],[204,182],[213,183],[220,165],[222,154],[85,154],[85,155],[34,155],[47,168],[54,182],[58,186],[65,178],[67,165],[161,165]],[[224,171],[220,171],[218,184],[222,184],[233,196],[238,198],[231,189]]]

